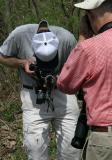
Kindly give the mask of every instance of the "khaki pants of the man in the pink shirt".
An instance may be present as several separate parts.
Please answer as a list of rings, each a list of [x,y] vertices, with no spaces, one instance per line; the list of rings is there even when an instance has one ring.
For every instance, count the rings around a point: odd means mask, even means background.
[[[112,131],[90,133],[86,160],[112,160]]]

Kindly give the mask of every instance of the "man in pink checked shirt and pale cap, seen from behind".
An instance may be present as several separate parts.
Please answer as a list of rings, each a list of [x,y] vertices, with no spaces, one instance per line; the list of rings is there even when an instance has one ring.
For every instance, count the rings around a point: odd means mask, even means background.
[[[112,0],[85,0],[75,7],[85,10],[79,43],[57,86],[69,94],[83,89],[90,127],[86,160],[112,160]]]

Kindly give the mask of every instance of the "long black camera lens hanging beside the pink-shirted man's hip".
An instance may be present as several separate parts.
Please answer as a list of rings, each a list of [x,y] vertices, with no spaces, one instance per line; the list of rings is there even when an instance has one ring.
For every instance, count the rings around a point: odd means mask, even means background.
[[[82,93],[80,96],[83,99]],[[74,135],[72,142],[71,142],[71,145],[74,148],[77,148],[77,149],[83,148],[83,146],[86,142],[88,130],[89,130],[89,126],[87,125],[86,103],[83,100],[82,109],[80,111],[77,125],[76,125],[76,129],[75,129],[75,135]]]

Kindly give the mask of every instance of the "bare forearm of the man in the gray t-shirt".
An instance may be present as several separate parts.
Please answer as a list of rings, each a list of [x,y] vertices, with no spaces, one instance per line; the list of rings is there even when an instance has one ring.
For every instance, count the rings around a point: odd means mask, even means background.
[[[25,62],[26,60],[0,55],[0,63],[12,68],[19,68],[20,66],[24,66]]]

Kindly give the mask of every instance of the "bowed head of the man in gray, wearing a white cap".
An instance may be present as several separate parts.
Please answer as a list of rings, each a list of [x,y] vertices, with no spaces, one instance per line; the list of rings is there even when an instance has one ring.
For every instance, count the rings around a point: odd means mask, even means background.
[[[40,28],[47,27],[47,31],[39,31]],[[58,53],[59,40],[48,28],[47,21],[41,21],[37,33],[32,39],[32,47],[37,58],[43,62],[53,60]]]

